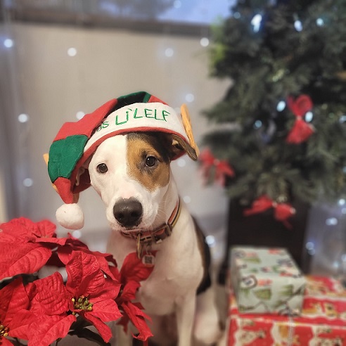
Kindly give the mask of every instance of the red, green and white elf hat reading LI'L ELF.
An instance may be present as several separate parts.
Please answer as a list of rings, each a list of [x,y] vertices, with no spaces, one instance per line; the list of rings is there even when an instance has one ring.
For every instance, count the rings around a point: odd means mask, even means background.
[[[165,132],[174,135],[181,149],[173,160],[184,153],[197,160],[198,147],[193,139],[186,105],[181,115],[167,103],[145,91],[108,101],[77,122],[65,122],[51,144],[48,172],[53,187],[65,203],[56,218],[67,229],[84,226],[82,209],[77,205],[79,193],[90,186],[84,163],[96,148],[110,136],[127,132]]]

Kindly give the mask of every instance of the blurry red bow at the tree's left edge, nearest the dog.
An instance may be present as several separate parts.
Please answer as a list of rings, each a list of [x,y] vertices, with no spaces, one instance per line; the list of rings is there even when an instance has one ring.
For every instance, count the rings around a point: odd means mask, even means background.
[[[218,160],[214,158],[212,152],[209,149],[203,150],[199,157],[202,162],[202,174],[203,178],[208,181],[214,176],[214,181],[217,181],[220,185],[224,186],[227,177],[234,177],[234,170],[226,160]],[[214,172],[212,172],[214,171]]]

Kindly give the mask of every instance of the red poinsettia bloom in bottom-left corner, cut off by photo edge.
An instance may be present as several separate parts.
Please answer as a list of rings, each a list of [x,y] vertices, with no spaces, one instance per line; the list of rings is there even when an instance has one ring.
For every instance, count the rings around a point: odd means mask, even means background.
[[[27,338],[27,325],[30,316],[23,309],[29,306],[29,298],[25,292],[21,278],[9,283],[0,290],[0,345],[13,345],[7,336]]]

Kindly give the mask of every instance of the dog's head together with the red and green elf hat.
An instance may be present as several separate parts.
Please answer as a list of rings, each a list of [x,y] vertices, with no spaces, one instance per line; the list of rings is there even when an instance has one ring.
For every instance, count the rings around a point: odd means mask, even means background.
[[[48,162],[49,177],[65,202],[56,213],[59,224],[82,228],[77,200],[92,185],[113,229],[153,225],[169,186],[169,162],[184,153],[197,160],[186,106],[179,114],[144,91],[110,100],[78,122],[63,124]]]

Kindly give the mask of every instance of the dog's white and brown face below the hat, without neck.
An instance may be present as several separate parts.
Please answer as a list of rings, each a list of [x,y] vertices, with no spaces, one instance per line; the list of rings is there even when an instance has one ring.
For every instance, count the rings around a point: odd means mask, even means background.
[[[172,136],[158,132],[117,135],[98,146],[89,175],[105,203],[112,229],[150,229],[165,222],[159,208],[169,184],[169,163],[177,150],[183,149],[172,145]]]

